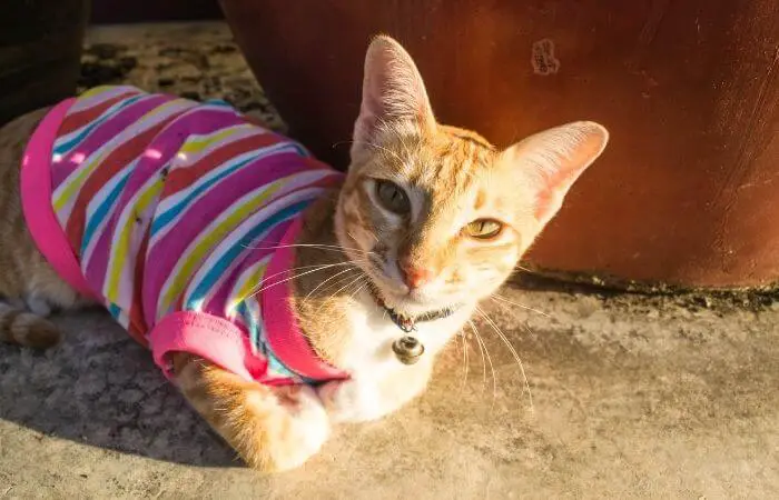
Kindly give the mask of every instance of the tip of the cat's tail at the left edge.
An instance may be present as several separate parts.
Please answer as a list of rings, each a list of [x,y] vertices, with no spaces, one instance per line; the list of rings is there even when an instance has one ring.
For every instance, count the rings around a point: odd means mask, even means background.
[[[60,337],[48,319],[0,302],[0,342],[46,349],[56,346]]]

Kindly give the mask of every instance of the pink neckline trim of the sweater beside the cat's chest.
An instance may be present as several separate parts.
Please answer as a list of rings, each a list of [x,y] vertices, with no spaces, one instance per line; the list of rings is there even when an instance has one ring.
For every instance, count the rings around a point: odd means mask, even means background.
[[[287,232],[274,250],[266,276],[286,279],[287,270],[293,268],[295,252],[292,244],[300,231],[303,219],[295,218]],[[289,304],[292,297],[290,281],[269,286],[262,297],[263,320],[265,321],[266,339],[270,350],[292,371],[314,380],[346,379],[348,376],[323,361],[308,343],[300,331]]]

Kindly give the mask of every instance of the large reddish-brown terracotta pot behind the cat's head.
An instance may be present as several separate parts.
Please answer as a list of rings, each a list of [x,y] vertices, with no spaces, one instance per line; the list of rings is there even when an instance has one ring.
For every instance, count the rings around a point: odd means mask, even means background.
[[[612,139],[530,254],[617,281],[779,280],[776,0],[221,0],[290,131],[346,164],[364,50],[396,37],[438,118],[500,146],[592,119]],[[343,146],[341,146],[343,144]]]

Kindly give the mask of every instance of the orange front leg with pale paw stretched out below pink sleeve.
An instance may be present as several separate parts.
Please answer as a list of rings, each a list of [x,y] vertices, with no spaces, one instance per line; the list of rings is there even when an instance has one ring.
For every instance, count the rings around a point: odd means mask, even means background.
[[[174,354],[174,371],[189,403],[255,469],[299,467],[329,436],[327,413],[309,387],[248,382],[180,352]]]

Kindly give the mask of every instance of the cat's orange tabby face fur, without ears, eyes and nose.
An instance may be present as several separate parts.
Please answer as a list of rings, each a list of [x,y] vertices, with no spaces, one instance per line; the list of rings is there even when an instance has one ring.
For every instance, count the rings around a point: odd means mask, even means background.
[[[493,292],[536,232],[531,193],[517,189],[513,166],[502,163],[486,140],[452,127],[404,136],[389,130],[366,146],[373,154],[352,164],[336,228],[343,247],[375,253],[363,269],[388,304],[415,314]],[[375,179],[405,190],[408,217],[377,203]],[[477,219],[505,226],[494,240],[476,240],[463,229]],[[434,278],[410,290],[401,259],[431,270]]]

